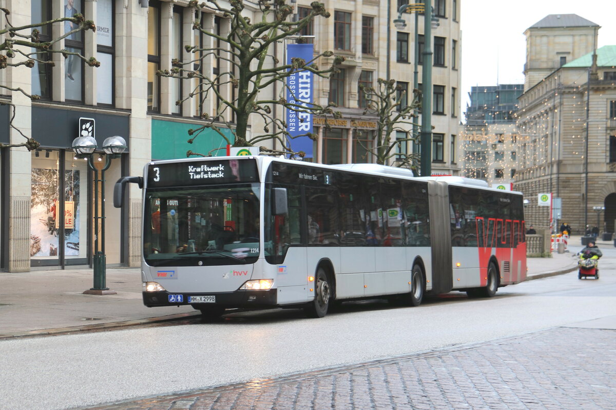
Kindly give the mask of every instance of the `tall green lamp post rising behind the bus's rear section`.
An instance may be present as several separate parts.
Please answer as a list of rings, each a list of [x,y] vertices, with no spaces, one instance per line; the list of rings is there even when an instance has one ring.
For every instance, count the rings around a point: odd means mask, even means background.
[[[426,3],[404,4],[398,9],[398,18],[394,20],[397,30],[402,30],[407,23],[402,18],[403,12],[415,12],[415,70],[413,71],[413,89],[418,87],[418,63],[419,63],[419,33],[418,13],[424,13],[424,50],[422,75],[422,102],[421,102],[421,176],[430,176],[432,169],[432,28],[439,26],[439,19],[434,15],[432,0],[428,1],[430,14],[425,12]],[[387,77],[389,79],[389,58],[387,59]],[[413,135],[417,135],[417,126],[413,125]]]

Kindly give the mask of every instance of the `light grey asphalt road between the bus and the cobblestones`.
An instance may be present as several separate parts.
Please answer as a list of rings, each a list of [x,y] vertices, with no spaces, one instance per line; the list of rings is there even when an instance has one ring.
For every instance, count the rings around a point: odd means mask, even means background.
[[[572,249],[573,251],[573,249]],[[501,288],[493,299],[452,293],[422,306],[343,306],[234,313],[197,323],[0,342],[0,408],[65,409],[429,352],[616,315],[616,250],[601,279],[577,274]],[[594,321],[594,322],[593,322]],[[598,321],[598,322],[597,322]],[[566,358],[563,358],[566,360]]]

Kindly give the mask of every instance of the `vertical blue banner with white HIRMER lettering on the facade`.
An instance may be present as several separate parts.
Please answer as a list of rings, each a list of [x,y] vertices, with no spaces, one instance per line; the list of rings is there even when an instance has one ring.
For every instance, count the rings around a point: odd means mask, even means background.
[[[314,44],[288,44],[286,46],[286,63],[291,64],[291,58],[312,60]],[[314,100],[312,73],[296,71],[286,78],[286,101],[301,106],[312,106]],[[293,109],[286,110],[286,130],[291,137],[312,132],[312,112]],[[309,136],[299,136],[288,141],[294,152],[306,152],[306,158],[312,158],[312,143]]]

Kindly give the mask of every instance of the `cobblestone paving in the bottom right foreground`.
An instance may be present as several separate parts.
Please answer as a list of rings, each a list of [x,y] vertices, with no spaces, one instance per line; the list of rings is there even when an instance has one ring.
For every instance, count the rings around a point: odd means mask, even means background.
[[[616,409],[616,331],[553,328],[90,409]]]

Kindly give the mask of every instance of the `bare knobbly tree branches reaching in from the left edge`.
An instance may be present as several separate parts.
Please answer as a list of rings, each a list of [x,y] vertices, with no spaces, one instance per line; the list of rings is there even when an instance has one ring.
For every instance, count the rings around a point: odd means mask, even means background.
[[[99,61],[97,61],[94,57],[86,58],[79,52],[70,52],[65,49],[54,49],[54,45],[72,34],[79,33],[81,31],[96,30],[94,22],[92,20],[85,20],[82,14],[75,14],[73,17],[54,18],[53,20],[46,22],[32,23],[25,26],[15,27],[10,23],[10,11],[4,7],[0,7],[0,11],[4,14],[3,20],[6,21],[4,28],[0,28],[0,37],[4,36],[5,39],[4,42],[0,43],[0,69],[6,69],[9,67],[17,68],[20,66],[33,68],[35,63],[53,67],[54,62],[52,61],[52,58],[49,58],[49,56],[53,53],[60,53],[64,58],[68,58],[71,55],[75,56],[74,58],[79,58],[91,67],[100,66]],[[50,41],[41,41],[39,38],[39,34],[41,34],[39,28],[47,25],[51,26],[54,23],[60,22],[71,22],[75,28],[67,31],[60,37],[51,39]],[[23,58],[17,58],[18,56],[22,56]],[[32,101],[36,101],[41,98],[39,95],[26,93],[21,87],[12,88],[6,84],[0,84],[0,89],[20,92]],[[18,144],[0,143],[0,148],[23,146],[26,147],[28,151],[38,148],[40,146],[38,141],[24,135],[23,132],[13,124],[15,119],[15,104],[0,101],[0,105],[10,106],[12,113],[10,114],[9,127],[20,133],[20,135],[22,135],[26,140],[25,142]]]

